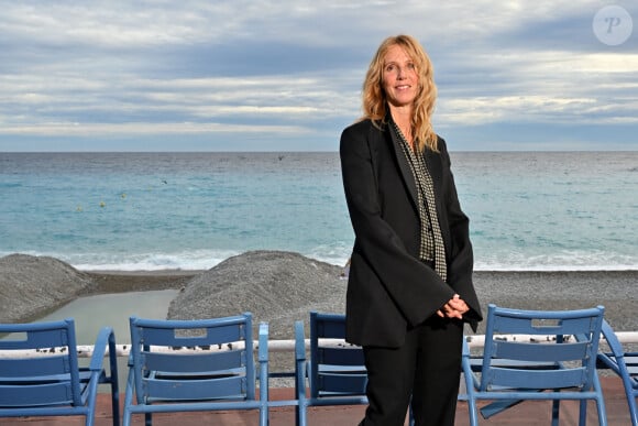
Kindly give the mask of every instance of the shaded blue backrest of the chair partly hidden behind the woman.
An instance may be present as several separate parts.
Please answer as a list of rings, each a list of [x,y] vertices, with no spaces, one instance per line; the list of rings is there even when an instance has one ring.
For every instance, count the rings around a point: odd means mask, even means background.
[[[367,372],[361,347],[321,339],[344,339],[345,316],[310,313],[310,395],[365,395]]]

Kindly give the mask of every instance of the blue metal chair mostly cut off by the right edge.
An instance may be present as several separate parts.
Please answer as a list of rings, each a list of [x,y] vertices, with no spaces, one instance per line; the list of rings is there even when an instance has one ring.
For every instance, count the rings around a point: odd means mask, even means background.
[[[623,380],[627,404],[629,405],[629,417],[631,417],[631,424],[638,426],[638,409],[636,408],[636,398],[638,398],[638,352],[625,351],[614,329],[606,320],[603,320],[603,337],[607,341],[610,352],[598,352],[598,365],[610,369]]]

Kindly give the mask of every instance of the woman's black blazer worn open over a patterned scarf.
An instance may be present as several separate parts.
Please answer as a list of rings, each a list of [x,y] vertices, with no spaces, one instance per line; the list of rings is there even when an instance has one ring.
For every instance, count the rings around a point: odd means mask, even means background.
[[[435,184],[448,283],[418,259],[417,187],[394,132],[364,120],[341,134],[343,186],[355,233],[345,308],[351,343],[398,347],[408,328],[436,315],[454,293],[470,306],[464,317],[474,330],[482,320],[469,219],[440,138],[438,146],[438,153],[427,149],[424,155]]]

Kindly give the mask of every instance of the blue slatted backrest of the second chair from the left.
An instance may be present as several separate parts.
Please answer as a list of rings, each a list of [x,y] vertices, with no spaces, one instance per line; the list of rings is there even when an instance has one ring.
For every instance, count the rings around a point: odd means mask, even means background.
[[[211,319],[130,318],[138,403],[254,400],[252,315]]]

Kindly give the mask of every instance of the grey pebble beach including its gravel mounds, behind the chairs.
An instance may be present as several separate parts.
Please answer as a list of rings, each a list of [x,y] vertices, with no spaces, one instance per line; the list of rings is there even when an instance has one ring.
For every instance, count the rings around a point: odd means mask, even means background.
[[[31,262],[32,266],[34,264],[35,266],[26,269],[25,262]],[[184,293],[191,283],[197,282],[206,295],[204,303],[189,303],[188,309],[183,307],[182,312],[177,305],[173,304],[173,309],[177,309],[173,312],[173,317],[202,317],[208,314],[205,310],[211,305],[216,306],[219,313],[230,314],[232,309],[264,313],[264,317],[255,314],[255,319],[271,320],[272,332],[282,335],[288,330],[278,329],[277,317],[286,317],[289,313],[305,315],[312,309],[344,312],[346,281],[340,276],[342,272],[340,266],[318,262],[296,253],[274,251],[244,253],[209,271],[80,272],[67,266],[72,272],[65,272],[64,277],[67,281],[79,277],[84,280],[85,285],[73,290],[64,297],[50,298],[35,312],[31,312],[33,301],[24,295],[29,293],[52,295],[61,291],[58,285],[51,283],[52,262],[59,269],[59,264],[51,261],[51,258],[14,255],[0,259],[0,306],[2,307],[0,316],[3,316],[1,320],[18,321],[34,318],[64,303],[90,294],[165,288],[182,290]],[[321,269],[318,270],[317,265]],[[22,275],[16,274],[15,271],[21,271]],[[70,276],[73,271],[77,276]],[[255,293],[255,283],[265,281],[272,285],[272,288],[267,291],[275,295],[270,299],[258,297]],[[57,282],[68,287],[68,284],[61,278],[57,278]],[[226,284],[223,288],[207,291],[210,282]],[[638,330],[638,271],[477,271],[474,273],[474,285],[484,310],[490,303],[514,308],[558,310],[603,305],[605,317],[616,330]],[[45,291],[46,288],[48,291]],[[282,303],[282,298],[277,295],[286,295],[285,306],[277,306]],[[223,297],[228,297],[226,304]],[[141,299],[140,303],[144,301]],[[220,306],[222,304],[229,305],[230,308]],[[23,313],[24,316],[8,317],[7,314],[10,310]],[[266,317],[267,313],[271,317]],[[300,316],[297,319],[305,318]],[[477,332],[482,334],[482,328]]]

